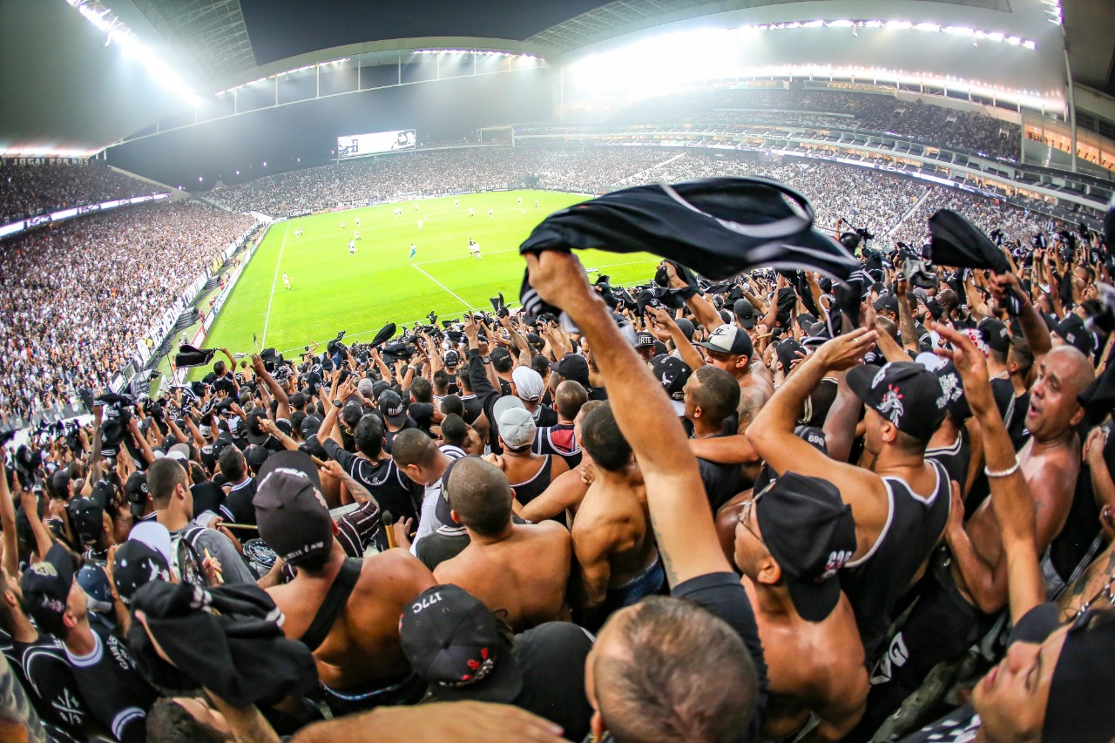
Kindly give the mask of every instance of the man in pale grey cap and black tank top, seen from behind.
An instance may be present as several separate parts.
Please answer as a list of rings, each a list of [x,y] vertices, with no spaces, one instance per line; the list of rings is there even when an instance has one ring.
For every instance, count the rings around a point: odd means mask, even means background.
[[[531,451],[536,427],[530,411],[523,407],[517,397],[500,398],[493,412],[500,425],[503,454],[489,454],[485,459],[503,470],[515,492],[515,500],[520,505],[526,505],[541,495],[559,475],[568,472],[569,465],[554,454],[535,454]]]

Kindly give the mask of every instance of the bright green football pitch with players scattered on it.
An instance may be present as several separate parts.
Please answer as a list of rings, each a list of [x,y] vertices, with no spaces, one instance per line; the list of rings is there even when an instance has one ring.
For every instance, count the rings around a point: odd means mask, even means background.
[[[515,306],[526,267],[520,243],[547,214],[584,199],[550,191],[500,191],[378,204],[272,224],[204,345],[250,353],[255,348],[254,334],[261,349],[272,347],[290,357],[307,344],[334,338],[339,330],[346,331],[346,339],[370,340],[387,322],[426,322],[430,311],[442,319],[471,309],[492,311],[488,299],[501,291],[507,305]],[[396,209],[403,210],[400,216],[394,215]],[[299,228],[303,234],[295,237]],[[348,242],[356,230],[360,240],[351,255]],[[479,243],[479,260],[468,251],[469,238]],[[578,254],[586,269],[599,269],[615,284],[647,281],[658,264],[647,253]],[[290,278],[290,289],[283,286],[283,273]]]

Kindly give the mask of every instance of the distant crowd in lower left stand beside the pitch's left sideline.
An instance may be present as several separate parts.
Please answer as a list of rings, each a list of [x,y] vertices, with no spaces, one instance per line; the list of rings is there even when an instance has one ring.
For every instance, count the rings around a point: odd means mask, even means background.
[[[0,421],[104,389],[151,324],[254,220],[196,201],[143,204],[0,244]]]

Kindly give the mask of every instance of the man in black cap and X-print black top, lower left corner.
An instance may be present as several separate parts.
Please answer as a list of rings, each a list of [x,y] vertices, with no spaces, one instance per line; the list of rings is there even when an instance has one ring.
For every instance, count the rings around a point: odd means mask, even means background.
[[[66,548],[51,547],[23,573],[20,587],[39,629],[61,640],[97,722],[122,743],[145,741],[144,718],[158,695],[139,675],[127,644],[89,624],[88,597],[75,580],[75,560]]]

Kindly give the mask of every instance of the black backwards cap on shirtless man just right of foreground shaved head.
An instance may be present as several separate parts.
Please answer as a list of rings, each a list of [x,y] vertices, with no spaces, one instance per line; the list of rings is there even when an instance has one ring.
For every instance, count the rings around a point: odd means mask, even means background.
[[[754,509],[794,608],[806,621],[823,620],[840,601],[836,573],[855,553],[852,508],[827,480],[787,472],[755,496]]]

